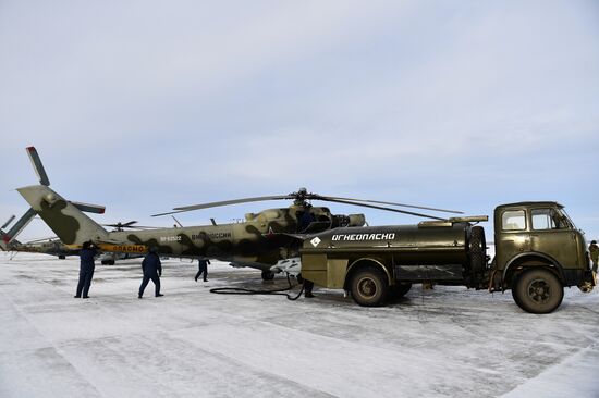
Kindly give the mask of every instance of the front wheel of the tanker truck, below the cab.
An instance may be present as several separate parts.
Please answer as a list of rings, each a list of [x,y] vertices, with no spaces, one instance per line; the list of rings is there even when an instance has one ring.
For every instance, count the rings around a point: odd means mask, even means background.
[[[512,287],[512,297],[526,312],[549,313],[562,303],[564,288],[560,279],[548,270],[524,271]]]

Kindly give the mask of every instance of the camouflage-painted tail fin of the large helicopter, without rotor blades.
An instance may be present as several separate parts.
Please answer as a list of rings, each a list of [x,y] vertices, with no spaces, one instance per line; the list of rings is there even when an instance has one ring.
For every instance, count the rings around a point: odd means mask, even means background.
[[[32,185],[16,190],[63,244],[81,246],[87,240],[107,239],[105,228],[50,187]]]

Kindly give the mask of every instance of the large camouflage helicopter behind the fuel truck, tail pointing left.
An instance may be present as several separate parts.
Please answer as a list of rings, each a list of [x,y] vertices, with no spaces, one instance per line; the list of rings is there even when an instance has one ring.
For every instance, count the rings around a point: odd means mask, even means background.
[[[29,153],[32,152],[29,151]],[[36,164],[40,166],[41,162],[34,162],[34,166]],[[155,216],[168,215],[218,206],[264,200],[293,200],[293,204],[288,208],[248,213],[242,223],[216,224],[213,222],[212,225],[108,232],[72,202],[53,191],[49,184],[44,184],[41,179],[40,185],[19,188],[17,191],[57,236],[70,247],[78,248],[84,241],[91,240],[102,251],[145,253],[149,248],[155,248],[159,254],[209,258],[229,261],[234,266],[255,268],[262,271],[264,279],[273,277],[272,270],[276,269],[273,266],[279,262],[298,256],[302,238],[308,234],[340,226],[363,226],[366,222],[364,214],[333,214],[329,208],[313,207],[309,203],[311,200],[353,204],[436,220],[442,219],[393,209],[389,206],[455,212],[394,202],[321,196],[301,188],[298,191],[289,195],[186,206],[175,208],[172,212],[155,214]],[[379,204],[386,204],[386,207]]]

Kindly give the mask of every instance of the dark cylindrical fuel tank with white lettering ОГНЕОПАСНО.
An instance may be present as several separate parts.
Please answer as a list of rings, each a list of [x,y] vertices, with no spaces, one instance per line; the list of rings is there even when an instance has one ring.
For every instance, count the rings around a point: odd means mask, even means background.
[[[304,249],[321,250],[328,258],[337,257],[335,253],[392,256],[396,265],[457,264],[468,259],[469,227],[467,223],[441,223],[334,228],[305,240]]]

